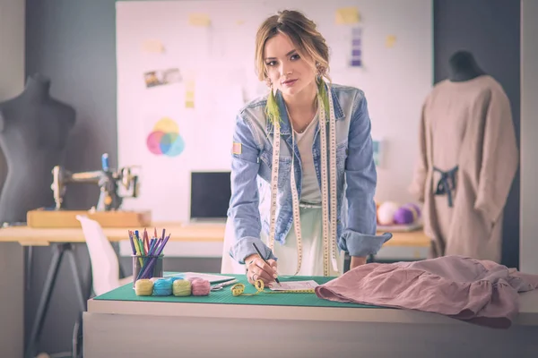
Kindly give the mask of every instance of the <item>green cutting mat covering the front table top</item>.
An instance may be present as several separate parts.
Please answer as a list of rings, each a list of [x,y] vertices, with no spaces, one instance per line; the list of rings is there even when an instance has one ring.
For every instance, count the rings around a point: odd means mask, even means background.
[[[169,276],[174,273],[165,273]],[[178,273],[180,275],[180,273]],[[212,274],[220,275],[220,274]],[[247,282],[245,275],[225,275],[236,277],[240,283],[246,286],[246,294],[256,293],[256,288]],[[319,285],[334,279],[334,277],[279,277],[281,282],[287,281],[306,281],[314,280]],[[268,294],[259,293],[254,296],[233,296],[230,290],[231,286],[225,286],[221,291],[211,292],[208,296],[187,296],[176,297],[170,296],[137,296],[134,293],[133,285],[118,287],[106,294],[94,297],[94,300],[108,301],[137,301],[137,302],[164,302],[164,303],[221,303],[221,304],[257,304],[271,306],[307,306],[307,307],[357,307],[357,308],[381,308],[377,306],[368,306],[355,303],[336,303],[333,301],[318,298],[316,294]],[[265,289],[268,291],[268,289]]]

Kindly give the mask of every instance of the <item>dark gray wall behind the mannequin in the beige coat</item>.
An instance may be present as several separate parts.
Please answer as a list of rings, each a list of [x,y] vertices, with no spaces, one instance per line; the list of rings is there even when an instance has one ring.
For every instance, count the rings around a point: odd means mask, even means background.
[[[435,0],[434,81],[448,75],[448,58],[459,49],[471,51],[485,72],[507,92],[519,142],[520,1]],[[519,265],[519,172],[508,195],[503,222],[502,263]]]

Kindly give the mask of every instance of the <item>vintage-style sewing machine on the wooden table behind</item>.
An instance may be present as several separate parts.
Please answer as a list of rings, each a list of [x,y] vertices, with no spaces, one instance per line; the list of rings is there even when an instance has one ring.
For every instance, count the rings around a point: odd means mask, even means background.
[[[100,196],[95,209],[97,211],[112,211],[121,207],[123,198],[136,198],[138,195],[138,175],[132,173],[132,166],[119,168],[116,171],[108,167],[108,154],[101,158],[101,170],[82,173],[71,173],[62,166],[52,169],[52,185],[56,210],[62,209],[65,190],[71,183],[94,183],[100,187]],[[120,193],[120,190],[125,193]]]

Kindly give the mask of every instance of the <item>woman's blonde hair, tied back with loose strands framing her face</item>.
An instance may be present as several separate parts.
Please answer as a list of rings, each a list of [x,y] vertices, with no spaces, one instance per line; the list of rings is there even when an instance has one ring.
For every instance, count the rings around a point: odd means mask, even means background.
[[[299,55],[306,57],[314,65],[317,77],[325,77],[330,81],[329,47],[325,38],[317,30],[316,23],[303,13],[295,10],[284,10],[267,18],[256,33],[256,74],[260,81],[267,78],[265,67],[265,43],[282,33],[291,39]]]

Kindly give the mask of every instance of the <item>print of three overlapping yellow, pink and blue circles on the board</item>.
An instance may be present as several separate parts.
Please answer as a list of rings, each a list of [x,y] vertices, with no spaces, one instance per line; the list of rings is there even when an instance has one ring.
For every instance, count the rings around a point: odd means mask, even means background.
[[[179,135],[176,122],[162,118],[153,126],[153,131],[146,140],[148,149],[155,155],[176,157],[185,149],[185,141]]]

